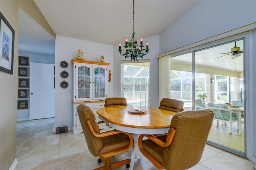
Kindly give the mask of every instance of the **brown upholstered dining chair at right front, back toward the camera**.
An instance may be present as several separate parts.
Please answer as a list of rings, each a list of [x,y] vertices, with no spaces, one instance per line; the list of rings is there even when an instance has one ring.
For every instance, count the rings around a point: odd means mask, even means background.
[[[160,170],[195,166],[202,157],[213,117],[210,109],[176,113],[167,135],[140,135],[140,152]],[[147,139],[143,140],[144,137]]]

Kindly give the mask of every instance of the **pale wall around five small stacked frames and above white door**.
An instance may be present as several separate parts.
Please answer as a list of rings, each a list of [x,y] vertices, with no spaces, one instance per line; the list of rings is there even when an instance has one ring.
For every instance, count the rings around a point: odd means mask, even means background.
[[[30,82],[30,62],[34,63],[47,63],[47,64],[54,64],[55,63],[55,56],[54,55],[45,55],[45,54],[37,54],[37,53],[27,53],[27,52],[21,52],[18,51],[18,56],[25,56],[29,57],[28,58],[28,77],[23,77],[23,78],[28,78]],[[22,66],[21,66],[22,67]],[[22,77],[19,77],[22,78]],[[29,87],[28,87],[29,89]],[[30,91],[28,90],[30,93]],[[28,94],[29,96],[29,94]],[[29,120],[29,98],[28,98],[28,109],[20,109],[17,110],[17,121],[24,121],[24,120]]]

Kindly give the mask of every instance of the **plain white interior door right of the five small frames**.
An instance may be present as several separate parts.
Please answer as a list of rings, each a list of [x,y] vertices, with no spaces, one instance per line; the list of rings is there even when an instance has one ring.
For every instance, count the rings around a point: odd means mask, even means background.
[[[30,63],[29,119],[54,117],[54,64]]]

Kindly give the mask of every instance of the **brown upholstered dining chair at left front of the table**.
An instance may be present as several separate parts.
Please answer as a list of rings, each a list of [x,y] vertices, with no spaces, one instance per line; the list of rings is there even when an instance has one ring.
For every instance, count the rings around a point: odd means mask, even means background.
[[[130,159],[111,163],[110,157],[130,150],[134,146],[132,136],[118,130],[100,133],[95,114],[90,107],[80,104],[76,110],[91,154],[99,156],[105,165],[97,170],[111,170],[122,165],[129,167]]]

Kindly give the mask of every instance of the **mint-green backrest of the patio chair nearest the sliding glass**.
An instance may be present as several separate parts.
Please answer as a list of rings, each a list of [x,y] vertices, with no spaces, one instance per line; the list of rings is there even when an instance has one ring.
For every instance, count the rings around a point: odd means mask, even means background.
[[[217,103],[208,103],[207,106],[209,108],[219,108],[219,109],[212,109],[214,112],[215,119],[223,119],[224,121],[229,121],[230,119],[230,113],[232,114],[232,120],[237,119],[237,116],[235,113],[232,113],[232,111],[228,110],[228,106],[224,104],[217,104]]]

